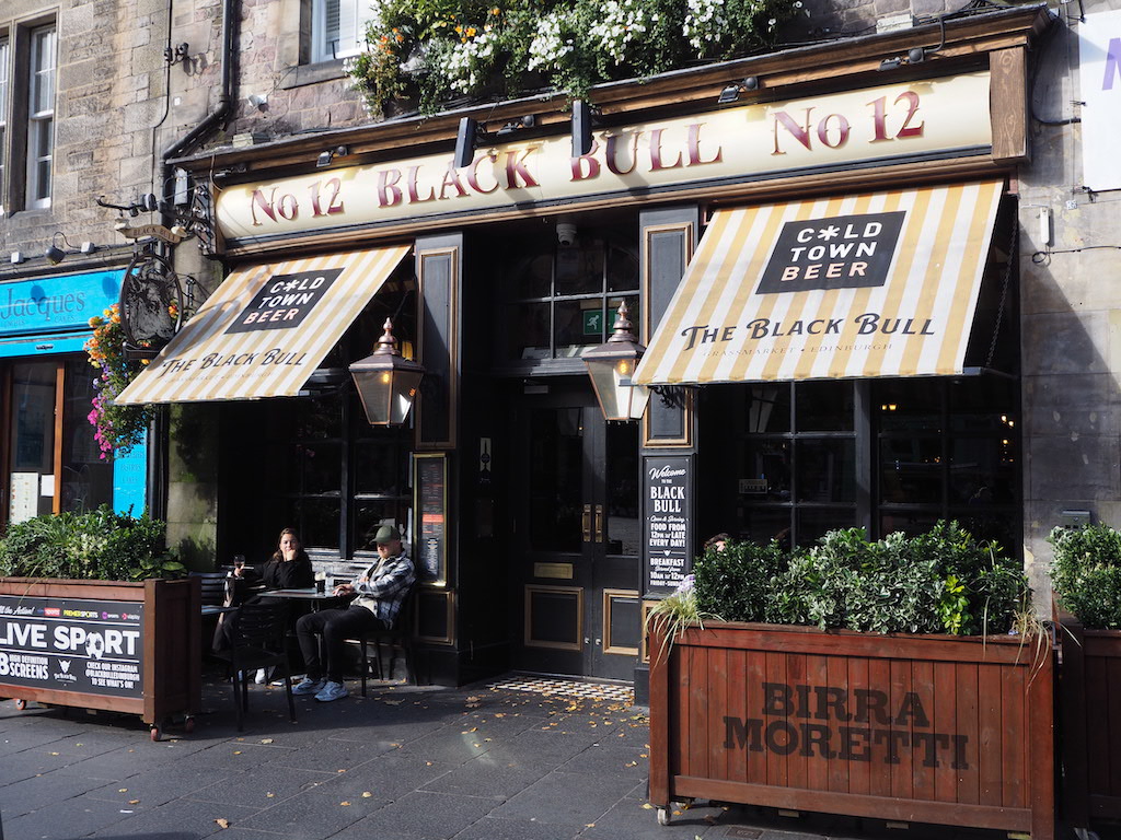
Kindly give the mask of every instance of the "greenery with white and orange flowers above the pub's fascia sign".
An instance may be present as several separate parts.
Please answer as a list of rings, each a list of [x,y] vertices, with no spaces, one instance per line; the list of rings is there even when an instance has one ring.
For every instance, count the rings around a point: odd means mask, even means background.
[[[367,49],[348,63],[368,106],[409,92],[434,112],[456,96],[552,87],[574,99],[771,45],[802,0],[374,0]]]

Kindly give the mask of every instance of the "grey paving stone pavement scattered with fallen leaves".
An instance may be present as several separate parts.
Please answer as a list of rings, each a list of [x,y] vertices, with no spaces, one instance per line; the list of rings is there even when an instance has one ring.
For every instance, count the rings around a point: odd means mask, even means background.
[[[0,702],[4,840],[1003,840],[698,802],[657,824],[649,729],[626,700],[509,681],[378,683],[318,703],[252,687],[245,730],[205,685],[191,735],[130,716]],[[585,692],[587,693],[587,692]]]

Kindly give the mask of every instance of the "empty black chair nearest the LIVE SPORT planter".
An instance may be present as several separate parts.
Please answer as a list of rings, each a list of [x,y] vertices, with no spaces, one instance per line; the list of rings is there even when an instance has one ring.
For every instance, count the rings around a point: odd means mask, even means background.
[[[232,645],[214,655],[230,663],[233,675],[233,704],[238,710],[238,731],[249,708],[249,681],[258,669],[274,668],[284,675],[288,696],[288,718],[296,722],[296,703],[291,696],[291,669],[285,650],[288,623],[287,604],[242,604],[238,608],[232,631]]]

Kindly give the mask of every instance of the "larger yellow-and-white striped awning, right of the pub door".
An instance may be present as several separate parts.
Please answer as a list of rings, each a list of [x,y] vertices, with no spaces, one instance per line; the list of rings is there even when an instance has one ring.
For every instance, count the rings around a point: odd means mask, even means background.
[[[961,373],[1002,181],[719,211],[641,384]]]

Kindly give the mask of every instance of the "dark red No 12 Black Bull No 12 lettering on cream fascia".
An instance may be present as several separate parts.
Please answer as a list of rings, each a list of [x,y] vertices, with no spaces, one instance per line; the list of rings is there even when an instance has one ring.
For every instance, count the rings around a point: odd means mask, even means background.
[[[769,114],[769,148],[758,149],[763,157],[784,157],[791,148],[814,152],[817,148],[841,149],[851,142],[867,144],[906,141],[921,138],[926,122],[920,119],[920,97],[915,91],[904,91],[893,99],[879,96],[865,103],[867,113],[855,114],[810,105],[779,110]],[[858,131],[863,127],[863,131]],[[733,142],[750,142],[747,127],[743,137]],[[649,127],[603,132],[593,140],[592,150],[568,160],[563,178],[569,184],[595,181],[604,172],[613,176],[656,174],[666,170],[689,170],[724,162],[726,132],[717,134],[707,122],[689,122],[674,127]],[[258,186],[249,195],[249,215],[253,227],[296,222],[302,215],[322,218],[344,216],[348,202],[355,190],[365,204],[379,209],[423,205],[485,196],[495,192],[517,194],[536,189],[556,180],[555,157],[544,156],[543,143],[519,148],[491,148],[475,157],[466,167],[456,168],[451,160],[426,159],[397,166],[379,167],[370,179],[344,181],[339,177],[314,180],[298,192],[274,185]],[[554,166],[549,166],[553,164]],[[351,190],[344,200],[344,190]]]

